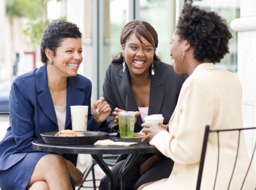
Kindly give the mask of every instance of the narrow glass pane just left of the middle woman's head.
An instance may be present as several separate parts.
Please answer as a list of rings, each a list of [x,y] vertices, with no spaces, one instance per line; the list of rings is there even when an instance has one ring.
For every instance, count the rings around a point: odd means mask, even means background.
[[[129,7],[129,0],[104,0],[103,2],[100,4],[104,10],[100,16],[104,25],[100,33],[104,39],[99,39],[99,96],[102,95],[105,72],[111,63],[111,58],[121,51],[121,30],[128,22]]]

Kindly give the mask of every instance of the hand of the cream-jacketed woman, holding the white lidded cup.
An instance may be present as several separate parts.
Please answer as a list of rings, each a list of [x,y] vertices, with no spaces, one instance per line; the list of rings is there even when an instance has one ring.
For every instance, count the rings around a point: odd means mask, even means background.
[[[167,131],[164,127],[159,127],[158,125],[155,124],[147,124],[143,123],[141,125],[143,129],[141,130],[143,133],[146,134],[146,136],[142,139],[142,142],[149,142],[151,139],[159,132],[162,130]]]

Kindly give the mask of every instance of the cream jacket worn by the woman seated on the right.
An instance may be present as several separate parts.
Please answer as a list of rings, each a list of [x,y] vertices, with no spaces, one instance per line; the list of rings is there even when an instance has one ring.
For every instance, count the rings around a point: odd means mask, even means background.
[[[204,130],[241,128],[241,85],[235,74],[202,63],[187,78],[180,91],[174,114],[169,121],[169,133],[159,132],[150,144],[174,160],[168,179],[160,180],[143,190],[195,190],[202,151]],[[220,165],[215,190],[227,190],[234,165],[237,132],[220,135]],[[213,190],[217,166],[217,136],[209,135],[201,190]],[[243,134],[240,154],[230,190],[240,189],[249,158]],[[251,167],[243,190],[254,190],[256,175]]]

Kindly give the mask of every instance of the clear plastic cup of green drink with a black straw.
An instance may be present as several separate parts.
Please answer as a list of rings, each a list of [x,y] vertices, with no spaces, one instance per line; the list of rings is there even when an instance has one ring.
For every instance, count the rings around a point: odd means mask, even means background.
[[[121,138],[132,138],[136,112],[118,112],[118,124]]]

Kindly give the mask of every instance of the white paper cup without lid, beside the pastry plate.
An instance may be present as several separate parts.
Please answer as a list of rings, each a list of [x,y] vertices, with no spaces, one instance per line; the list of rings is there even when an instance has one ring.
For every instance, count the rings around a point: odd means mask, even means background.
[[[73,131],[87,131],[89,106],[70,106]]]

